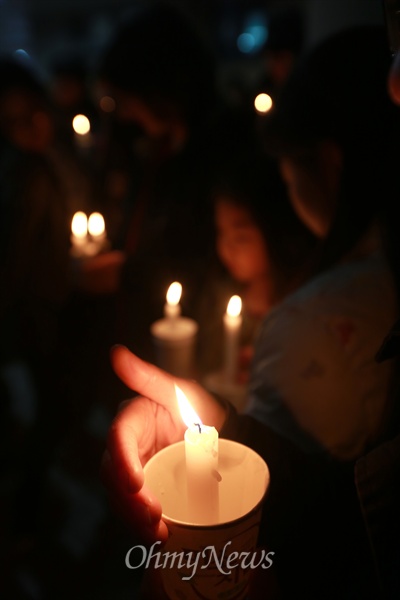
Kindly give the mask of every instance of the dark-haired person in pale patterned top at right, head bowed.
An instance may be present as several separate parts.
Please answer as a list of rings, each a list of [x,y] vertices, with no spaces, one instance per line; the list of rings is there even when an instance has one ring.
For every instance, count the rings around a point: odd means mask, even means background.
[[[375,71],[358,70],[351,79],[351,60],[358,59],[351,49],[355,39],[368,39]],[[346,57],[347,71],[339,56]],[[334,89],[324,83],[328,66],[337,75]],[[389,148],[394,150],[391,127],[397,115],[384,91],[371,85],[374,77],[383,81],[386,72],[380,30],[344,32],[305,58],[275,111],[265,117],[267,147],[280,162],[294,210],[318,243],[297,273],[298,289],[263,321],[247,410],[305,450],[319,447],[341,459],[356,457],[378,439],[391,378],[389,365],[374,363],[396,310],[376,224],[379,174]],[[362,128],[373,106],[384,107],[387,120],[378,127],[369,124],[366,137]],[[378,161],[373,150],[382,135],[386,154]],[[218,210],[217,205],[217,216]],[[223,221],[220,230],[224,234]],[[242,263],[231,254],[221,245],[220,255],[238,273]],[[266,264],[265,253],[264,263],[257,257],[262,246],[249,261],[254,269]],[[372,291],[377,282],[381,295]]]

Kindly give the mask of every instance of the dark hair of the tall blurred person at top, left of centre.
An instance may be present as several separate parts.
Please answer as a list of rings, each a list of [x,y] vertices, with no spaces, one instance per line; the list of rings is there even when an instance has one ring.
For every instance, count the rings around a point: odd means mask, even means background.
[[[214,102],[214,60],[198,31],[164,2],[137,8],[106,49],[99,75],[150,104],[168,100],[188,120]]]

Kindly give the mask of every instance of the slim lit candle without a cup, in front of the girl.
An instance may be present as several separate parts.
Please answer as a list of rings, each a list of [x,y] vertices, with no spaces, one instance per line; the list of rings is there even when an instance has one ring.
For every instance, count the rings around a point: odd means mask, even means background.
[[[242,300],[239,296],[232,296],[229,300],[226,313],[224,314],[224,375],[225,380],[234,383],[236,380],[238,360],[240,329],[242,326]]]

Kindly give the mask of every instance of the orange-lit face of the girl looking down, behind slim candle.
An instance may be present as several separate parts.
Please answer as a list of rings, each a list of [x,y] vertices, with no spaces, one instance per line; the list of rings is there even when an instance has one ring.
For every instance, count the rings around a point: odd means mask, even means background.
[[[229,197],[215,205],[217,252],[234,279],[251,283],[269,273],[267,246],[250,212]]]

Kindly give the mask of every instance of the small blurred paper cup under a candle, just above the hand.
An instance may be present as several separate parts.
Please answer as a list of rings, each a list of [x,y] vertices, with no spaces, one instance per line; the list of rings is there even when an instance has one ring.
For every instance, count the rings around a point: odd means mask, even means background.
[[[195,373],[198,325],[193,319],[159,319],[151,335],[157,366],[176,377],[191,378]]]

